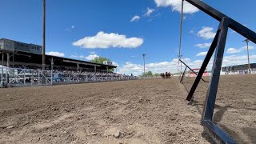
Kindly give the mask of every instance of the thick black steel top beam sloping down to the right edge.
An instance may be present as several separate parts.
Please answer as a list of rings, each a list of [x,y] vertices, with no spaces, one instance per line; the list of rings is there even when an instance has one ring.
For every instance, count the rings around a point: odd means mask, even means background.
[[[226,17],[225,14],[222,14],[218,10],[215,10],[213,7],[207,5],[206,3],[200,1],[200,0],[186,0],[186,2],[189,2],[193,6],[196,6],[199,10],[202,10],[206,14],[209,14],[211,17],[217,19],[219,22],[222,21],[222,18]],[[239,22],[236,22],[234,19],[230,18],[230,25],[229,27],[238,32],[238,34],[241,34],[242,36],[248,38],[251,42],[254,42],[256,44],[256,33],[253,30],[248,29],[246,26],[242,26]]]

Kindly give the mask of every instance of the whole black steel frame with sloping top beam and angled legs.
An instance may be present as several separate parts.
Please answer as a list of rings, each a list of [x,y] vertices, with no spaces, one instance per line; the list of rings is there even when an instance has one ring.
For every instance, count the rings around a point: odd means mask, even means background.
[[[186,2],[196,6],[198,9],[202,10],[206,14],[209,14],[211,17],[220,22],[217,33],[214,37],[214,41],[211,43],[210,49],[206,54],[206,58],[202,62],[202,66],[198,72],[197,78],[194,80],[193,86],[191,87],[186,100],[191,101],[194,98],[194,91],[197,89],[198,83],[202,78],[202,74],[206,70],[206,66],[210,62],[210,58],[214,54],[215,50],[212,74],[210,76],[201,123],[206,132],[216,143],[236,143],[232,138],[230,138],[229,134],[226,134],[226,132],[212,122],[216,95],[218,91],[218,82],[222,67],[222,59],[226,45],[226,36],[228,28],[231,28],[238,34],[241,34],[245,38],[249,39],[251,42],[256,43],[256,33],[254,33],[253,30],[248,29],[246,26],[242,26],[242,24],[239,22],[234,21],[234,19],[222,14],[218,10],[215,10],[213,7],[206,5],[206,3],[201,2],[200,0],[186,0]]]

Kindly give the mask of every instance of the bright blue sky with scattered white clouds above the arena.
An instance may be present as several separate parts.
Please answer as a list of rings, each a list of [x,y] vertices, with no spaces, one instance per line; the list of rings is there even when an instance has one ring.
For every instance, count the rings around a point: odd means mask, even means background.
[[[256,31],[254,0],[203,0]],[[202,64],[218,22],[194,6],[185,5],[183,60]],[[118,72],[142,74],[177,71],[180,22],[179,0],[46,0],[46,52],[89,61],[102,56],[118,65]],[[1,0],[0,38],[42,45],[42,0]],[[223,66],[245,64],[246,43],[229,30]],[[256,62],[250,42],[250,62]],[[209,66],[210,68],[210,66]]]

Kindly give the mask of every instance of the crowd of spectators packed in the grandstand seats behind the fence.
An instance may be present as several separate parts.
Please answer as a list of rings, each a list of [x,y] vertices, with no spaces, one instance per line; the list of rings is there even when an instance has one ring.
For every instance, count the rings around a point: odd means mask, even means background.
[[[36,80],[38,75],[42,77],[41,67],[39,66],[23,66],[14,65],[14,69],[18,70],[17,74],[24,73],[25,81],[31,82],[32,78]],[[107,72],[106,70],[97,70],[80,67],[79,69],[70,66],[54,66],[53,70],[49,70],[46,66],[46,71],[43,73],[44,77],[48,79],[47,82],[101,82],[101,81],[114,81],[114,80],[128,80],[136,79],[133,75],[118,74]],[[22,75],[23,76],[23,75]],[[23,78],[24,79],[24,78]],[[22,78],[18,78],[19,82],[23,82]],[[36,80],[37,81],[37,80]]]

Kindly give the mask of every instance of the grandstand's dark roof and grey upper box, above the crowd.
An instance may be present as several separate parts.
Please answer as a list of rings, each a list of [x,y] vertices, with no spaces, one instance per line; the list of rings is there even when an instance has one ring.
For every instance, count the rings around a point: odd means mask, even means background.
[[[3,58],[4,66],[29,69],[40,69],[42,67],[42,46],[2,38],[0,39],[0,52],[7,55]],[[3,54],[0,56],[1,60]],[[107,72],[108,69],[117,68],[117,66],[112,65],[46,55],[46,70],[51,70],[52,60],[54,61],[54,70]]]

